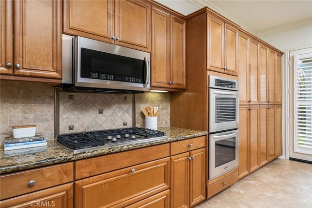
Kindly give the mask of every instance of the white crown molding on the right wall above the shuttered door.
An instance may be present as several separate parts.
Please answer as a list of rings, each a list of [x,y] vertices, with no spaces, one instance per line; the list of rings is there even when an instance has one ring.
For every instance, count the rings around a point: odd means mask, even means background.
[[[312,25],[312,20],[310,18],[308,18],[306,20],[302,20],[302,21],[295,21],[291,24],[284,24],[284,25],[279,26],[279,27],[274,27],[274,28],[270,28],[267,30],[263,30],[261,32],[255,33],[255,34],[257,37],[262,38],[265,36],[269,36],[269,35],[273,35],[276,33],[281,33],[281,32],[285,32],[285,31],[293,30],[293,29],[308,26],[308,25]]]

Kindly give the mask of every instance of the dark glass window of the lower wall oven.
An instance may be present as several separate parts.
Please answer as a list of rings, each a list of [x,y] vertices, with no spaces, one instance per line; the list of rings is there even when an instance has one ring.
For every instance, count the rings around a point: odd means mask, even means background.
[[[215,142],[215,167],[235,160],[235,137]]]

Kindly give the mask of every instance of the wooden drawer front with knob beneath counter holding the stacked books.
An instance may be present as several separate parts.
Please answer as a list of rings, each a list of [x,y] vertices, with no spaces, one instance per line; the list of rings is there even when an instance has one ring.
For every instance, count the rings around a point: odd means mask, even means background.
[[[73,170],[73,163],[65,163],[3,175],[0,177],[1,200],[72,182]],[[33,186],[31,181],[35,182]]]

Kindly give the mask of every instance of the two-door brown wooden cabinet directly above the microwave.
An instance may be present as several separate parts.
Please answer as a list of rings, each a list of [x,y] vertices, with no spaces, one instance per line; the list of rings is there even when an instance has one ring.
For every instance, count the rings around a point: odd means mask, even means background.
[[[151,52],[151,4],[144,0],[65,0],[63,32]]]

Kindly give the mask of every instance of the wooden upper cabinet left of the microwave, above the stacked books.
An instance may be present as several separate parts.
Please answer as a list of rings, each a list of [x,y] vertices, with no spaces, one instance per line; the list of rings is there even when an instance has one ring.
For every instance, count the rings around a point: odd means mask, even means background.
[[[4,0],[0,11],[0,73],[61,79],[62,2]]]

